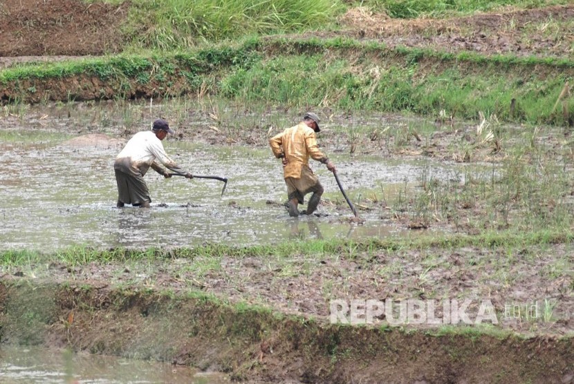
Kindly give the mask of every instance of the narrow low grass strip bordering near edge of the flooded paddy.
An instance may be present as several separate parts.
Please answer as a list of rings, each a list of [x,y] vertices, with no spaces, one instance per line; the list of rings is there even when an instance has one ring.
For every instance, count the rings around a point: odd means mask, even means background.
[[[224,244],[203,244],[192,248],[177,249],[94,249],[91,247],[71,247],[50,253],[33,249],[9,250],[0,252],[0,265],[5,268],[26,267],[50,262],[66,265],[88,265],[91,262],[127,262],[142,260],[162,260],[177,258],[246,258],[277,257],[288,258],[295,255],[330,256],[354,258],[358,252],[372,254],[377,251],[405,251],[406,249],[454,249],[460,247],[528,247],[540,244],[571,243],[574,233],[564,229],[543,231],[485,231],[476,236],[468,235],[428,235],[406,238],[367,239],[367,240],[301,240],[276,245],[254,245],[232,247]]]

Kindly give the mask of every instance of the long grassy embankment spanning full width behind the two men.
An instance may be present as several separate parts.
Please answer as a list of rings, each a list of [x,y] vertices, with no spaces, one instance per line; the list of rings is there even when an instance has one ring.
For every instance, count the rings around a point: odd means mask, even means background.
[[[536,68],[536,70],[535,70]],[[220,95],[250,105],[324,106],[564,124],[574,101],[555,108],[574,73],[568,59],[450,54],[351,39],[250,39],[195,51],[119,55],[0,72],[6,98],[48,99]],[[78,84],[98,79],[101,88]],[[66,85],[68,93],[47,87]],[[103,85],[102,85],[103,84]],[[515,104],[511,108],[512,99]],[[564,113],[563,113],[564,111]]]

